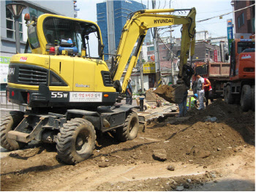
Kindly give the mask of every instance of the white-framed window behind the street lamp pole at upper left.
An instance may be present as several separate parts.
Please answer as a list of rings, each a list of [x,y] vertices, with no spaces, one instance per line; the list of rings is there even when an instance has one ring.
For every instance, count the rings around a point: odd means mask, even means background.
[[[12,16],[12,12],[6,8],[6,20],[7,20],[7,38],[15,39],[15,20]],[[23,40],[23,30],[22,30],[22,17],[19,18],[19,31],[20,40]]]

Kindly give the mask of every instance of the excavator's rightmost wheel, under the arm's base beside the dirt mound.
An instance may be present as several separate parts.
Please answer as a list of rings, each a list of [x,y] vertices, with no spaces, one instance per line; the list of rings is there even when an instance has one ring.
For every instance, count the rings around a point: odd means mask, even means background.
[[[137,137],[139,131],[139,118],[137,112],[131,112],[124,123],[123,128],[116,129],[116,139],[120,142],[126,142]]]

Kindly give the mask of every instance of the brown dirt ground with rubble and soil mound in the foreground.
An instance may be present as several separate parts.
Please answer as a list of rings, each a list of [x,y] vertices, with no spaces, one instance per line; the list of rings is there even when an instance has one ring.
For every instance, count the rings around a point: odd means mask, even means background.
[[[54,145],[1,150],[1,191],[255,191],[255,112],[217,99],[148,122],[127,142],[98,134],[75,166]]]

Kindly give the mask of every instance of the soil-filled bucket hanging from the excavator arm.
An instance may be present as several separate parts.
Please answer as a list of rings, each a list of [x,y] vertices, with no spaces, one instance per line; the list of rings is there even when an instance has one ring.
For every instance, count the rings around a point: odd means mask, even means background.
[[[186,85],[162,85],[157,88],[153,93],[161,96],[166,101],[173,104],[180,104],[184,98],[184,93],[187,91]]]

